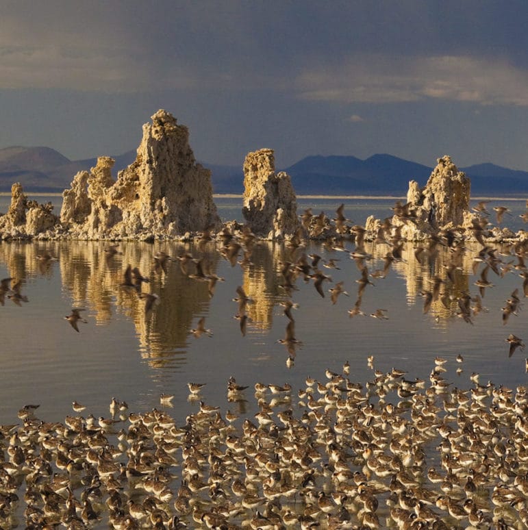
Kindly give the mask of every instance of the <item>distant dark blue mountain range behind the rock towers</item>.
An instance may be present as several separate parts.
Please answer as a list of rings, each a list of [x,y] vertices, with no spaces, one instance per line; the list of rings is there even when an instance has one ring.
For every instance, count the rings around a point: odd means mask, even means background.
[[[113,156],[113,173],[124,169],[136,159],[136,151]],[[20,182],[27,192],[62,192],[70,187],[78,171],[90,170],[97,158],[68,160],[50,147],[5,147],[0,149],[0,191],[11,190]],[[241,166],[201,164],[211,170],[215,193],[243,192],[244,175]],[[494,164],[476,164],[465,168],[471,179],[471,194],[514,197],[528,194],[528,171],[518,171]],[[361,160],[354,156],[307,156],[286,171],[297,194],[397,194],[407,193],[410,180],[424,186],[432,167],[386,154]]]

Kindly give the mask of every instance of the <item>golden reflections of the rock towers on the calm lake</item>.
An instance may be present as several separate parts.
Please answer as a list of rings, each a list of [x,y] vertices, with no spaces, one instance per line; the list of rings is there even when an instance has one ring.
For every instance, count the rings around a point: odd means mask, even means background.
[[[312,312],[311,316],[301,318],[307,318],[308,323],[325,325],[326,313],[334,314],[337,310],[331,308],[329,294],[320,294],[327,293],[338,282],[342,282],[342,290],[350,295],[336,299],[335,305],[343,314],[355,303],[357,312],[351,314],[349,310],[351,316],[370,314],[386,318],[387,313],[382,310],[387,308],[381,304],[388,303],[388,299],[383,291],[390,285],[391,275],[401,278],[407,305],[418,305],[420,312],[427,315],[429,325],[447,329],[453,317],[473,324],[479,312],[486,311],[483,305],[489,288],[479,286],[477,281],[483,268],[490,267],[490,279],[499,285],[504,281],[503,276],[518,275],[522,262],[519,256],[525,253],[523,245],[486,249],[483,256],[478,243],[462,247],[441,241],[434,246],[421,247],[405,242],[394,257],[390,255],[394,251],[388,244],[365,242],[362,247],[365,257],[360,260],[356,257],[355,261],[361,263],[355,266],[349,257],[349,251],[355,246],[349,240],[344,240],[341,247],[314,242],[306,246],[252,242],[251,252],[244,259],[244,251],[248,248],[249,245],[240,246],[232,259],[233,256],[226,257],[222,252],[222,243],[214,240],[199,244],[123,242],[113,247],[108,242],[13,242],[0,245],[0,261],[5,264],[13,283],[22,282],[22,291],[27,283],[38,277],[51,279],[60,273],[62,291],[71,300],[71,307],[85,307],[98,326],[108,326],[120,318],[129,320],[134,324],[142,359],[151,368],[179,370],[178,367],[186,362],[186,353],[197,341],[210,341],[201,348],[216,349],[219,344],[218,348],[223,351],[234,343],[235,334],[244,338],[245,332],[240,333],[233,320],[237,310],[231,299],[236,294],[236,285],[242,286],[249,299],[244,310],[250,334],[270,336],[273,342],[286,344],[289,356],[294,357],[301,341],[306,342],[305,334],[310,340],[316,329],[306,330],[303,321],[294,316],[297,312],[291,305],[301,301],[301,307]],[[345,250],[339,251],[339,248]],[[171,257],[164,267],[159,266],[163,255]],[[314,258],[309,255],[320,255],[320,261],[313,265]],[[129,265],[138,268],[148,280],[141,282],[138,290],[122,285],[124,271]],[[328,272],[321,273],[325,266]],[[313,287],[313,279],[318,274],[333,276],[332,280],[323,281],[319,293],[314,292]],[[226,277],[226,285],[213,290],[210,278],[221,282],[224,279],[221,276]],[[362,281],[364,277],[368,277],[366,283]],[[522,285],[520,280],[510,280],[510,283],[518,288]],[[145,312],[146,302],[140,293],[155,294],[159,303]],[[507,296],[508,293],[504,293],[502,300]],[[217,303],[218,297],[221,301]],[[216,313],[210,315],[213,299]],[[290,307],[286,309],[288,301]],[[194,333],[194,336],[190,333],[201,317],[206,318],[205,327],[212,327],[212,338],[208,338],[208,333]],[[279,320],[279,331],[272,335],[274,318]],[[388,318],[392,318],[390,312]],[[329,327],[332,326],[330,323]],[[81,328],[81,332],[84,331],[84,327]],[[197,338],[198,335],[201,336]],[[268,346],[260,346],[260,349],[267,350]]]

